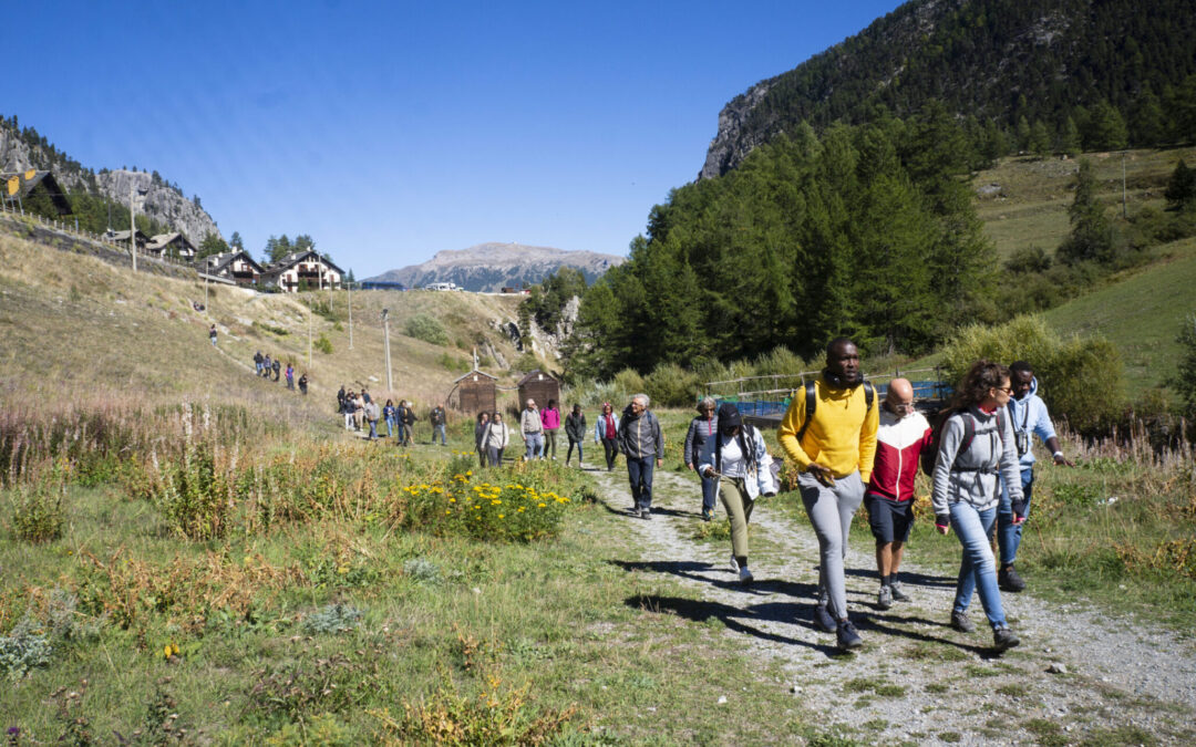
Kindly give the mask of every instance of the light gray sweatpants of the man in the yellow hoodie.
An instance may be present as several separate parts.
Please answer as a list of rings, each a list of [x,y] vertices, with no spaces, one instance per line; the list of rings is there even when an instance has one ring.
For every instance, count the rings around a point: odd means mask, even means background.
[[[819,483],[808,472],[798,476],[798,490],[806,507],[810,523],[818,535],[820,562],[818,568],[818,599],[828,600],[836,620],[847,618],[847,586],[843,581],[843,558],[852,516],[864,501],[860,472],[835,480],[834,488]]]

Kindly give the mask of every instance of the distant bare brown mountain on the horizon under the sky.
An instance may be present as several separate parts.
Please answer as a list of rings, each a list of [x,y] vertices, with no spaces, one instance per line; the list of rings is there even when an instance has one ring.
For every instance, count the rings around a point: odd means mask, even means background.
[[[562,267],[581,270],[586,282],[592,283],[623,262],[623,257],[591,251],[489,243],[440,251],[423,264],[389,270],[367,280],[401,282],[409,288],[452,282],[466,290],[500,290],[533,286]]]

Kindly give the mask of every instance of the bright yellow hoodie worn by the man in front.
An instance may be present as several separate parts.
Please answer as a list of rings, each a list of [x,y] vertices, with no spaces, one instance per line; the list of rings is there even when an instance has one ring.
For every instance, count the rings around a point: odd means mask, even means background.
[[[794,393],[777,431],[781,448],[803,472],[808,471],[812,463],[829,467],[836,478],[859,470],[860,479],[867,485],[872,478],[872,459],[877,455],[879,397],[873,397],[868,410],[862,385],[834,390],[822,376],[814,381],[814,397],[818,404],[813,421],[798,443],[798,431],[806,421],[805,387]]]

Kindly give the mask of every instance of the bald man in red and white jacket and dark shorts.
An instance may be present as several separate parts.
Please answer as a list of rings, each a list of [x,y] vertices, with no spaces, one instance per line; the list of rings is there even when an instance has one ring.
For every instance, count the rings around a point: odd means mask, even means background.
[[[914,409],[914,387],[908,379],[889,382],[880,404],[877,458],[864,495],[872,535],[877,538],[877,570],[880,593],[877,605],[887,610],[893,601],[909,601],[897,581],[901,555],[914,523],[914,478],[923,448],[929,448],[930,424]]]

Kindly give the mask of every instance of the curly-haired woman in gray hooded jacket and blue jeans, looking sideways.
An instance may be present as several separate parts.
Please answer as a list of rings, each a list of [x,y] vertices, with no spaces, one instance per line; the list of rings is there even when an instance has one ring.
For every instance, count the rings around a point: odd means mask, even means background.
[[[1005,619],[989,541],[1001,498],[997,474],[1009,485],[1014,503],[1021,502],[1018,452],[1006,409],[1012,392],[1009,369],[1000,363],[977,361],[968,371],[939,431],[932,494],[935,528],[940,534],[954,529],[964,547],[951,626],[965,633],[975,630],[968,605],[978,589],[999,651],[1019,643]]]

